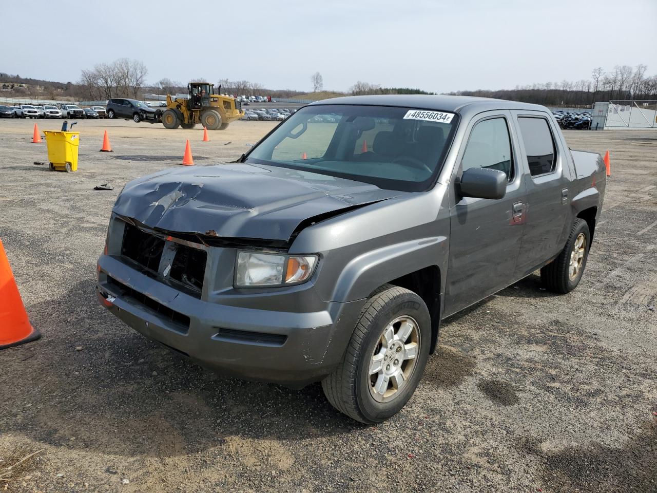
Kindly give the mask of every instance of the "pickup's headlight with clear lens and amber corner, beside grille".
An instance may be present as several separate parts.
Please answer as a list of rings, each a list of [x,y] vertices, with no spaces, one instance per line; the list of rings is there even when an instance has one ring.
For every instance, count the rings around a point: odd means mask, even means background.
[[[237,287],[285,286],[310,279],[317,266],[316,255],[284,255],[238,252]]]

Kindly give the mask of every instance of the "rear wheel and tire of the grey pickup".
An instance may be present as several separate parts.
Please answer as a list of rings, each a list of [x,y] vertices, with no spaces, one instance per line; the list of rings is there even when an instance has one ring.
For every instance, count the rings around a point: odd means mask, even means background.
[[[558,257],[541,269],[541,281],[554,293],[570,293],[577,287],[586,267],[591,247],[589,225],[577,218],[570,228],[566,246]]]

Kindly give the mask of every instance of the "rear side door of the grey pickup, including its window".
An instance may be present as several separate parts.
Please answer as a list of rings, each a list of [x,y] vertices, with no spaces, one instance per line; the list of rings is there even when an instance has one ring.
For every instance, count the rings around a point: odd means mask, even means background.
[[[518,278],[550,260],[566,241],[570,210],[570,168],[557,145],[555,122],[544,112],[512,111],[524,167],[527,206]]]

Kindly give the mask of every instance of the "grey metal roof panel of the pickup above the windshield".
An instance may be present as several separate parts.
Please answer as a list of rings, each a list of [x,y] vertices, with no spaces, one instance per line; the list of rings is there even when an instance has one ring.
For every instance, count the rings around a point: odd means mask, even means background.
[[[369,106],[402,106],[405,108],[421,108],[426,110],[442,110],[461,112],[468,110],[538,110],[547,111],[545,106],[518,103],[505,99],[470,96],[435,96],[426,94],[384,94],[370,96],[347,96],[315,101],[311,105],[369,105]]]

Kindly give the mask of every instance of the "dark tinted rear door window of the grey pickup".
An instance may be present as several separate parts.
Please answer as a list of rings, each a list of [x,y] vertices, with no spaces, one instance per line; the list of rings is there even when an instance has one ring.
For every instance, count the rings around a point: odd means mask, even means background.
[[[545,118],[518,118],[520,134],[527,153],[527,162],[532,176],[551,173],[555,170],[555,141]]]

